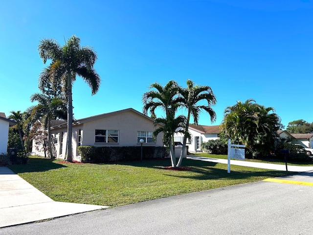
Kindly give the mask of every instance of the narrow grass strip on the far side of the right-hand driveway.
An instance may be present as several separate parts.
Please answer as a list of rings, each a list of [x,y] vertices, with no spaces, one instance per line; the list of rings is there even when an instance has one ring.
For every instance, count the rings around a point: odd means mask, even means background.
[[[190,156],[202,157],[202,158],[219,158],[219,159],[227,159],[227,155],[216,155],[209,153],[192,153]],[[285,160],[275,159],[275,158],[267,158],[267,159],[245,159],[246,162],[254,162],[254,163],[270,163],[270,164],[285,164]],[[313,166],[313,161],[310,162],[291,162],[287,159],[288,165],[298,165],[298,166]]]

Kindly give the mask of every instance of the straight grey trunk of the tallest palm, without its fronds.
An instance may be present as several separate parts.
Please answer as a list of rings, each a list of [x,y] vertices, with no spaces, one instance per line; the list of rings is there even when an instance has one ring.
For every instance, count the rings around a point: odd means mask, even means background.
[[[72,83],[70,71],[67,72],[67,162],[72,162],[72,121],[73,121],[73,104],[72,104]]]

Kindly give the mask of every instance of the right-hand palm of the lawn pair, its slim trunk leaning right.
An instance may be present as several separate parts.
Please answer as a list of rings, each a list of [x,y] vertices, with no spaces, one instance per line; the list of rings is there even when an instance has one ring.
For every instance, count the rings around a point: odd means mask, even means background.
[[[189,134],[189,122],[190,116],[194,118],[194,123],[198,125],[199,114],[201,110],[204,110],[210,115],[211,123],[216,120],[216,114],[212,109],[212,105],[216,104],[216,97],[209,86],[195,86],[193,81],[187,80],[187,88],[180,89],[181,99],[179,100],[181,105],[187,110],[187,122],[184,129],[185,138],[183,140],[182,149],[179,157],[177,167],[180,166],[182,158],[184,156],[187,135]],[[200,105],[199,102],[205,100],[207,105]]]

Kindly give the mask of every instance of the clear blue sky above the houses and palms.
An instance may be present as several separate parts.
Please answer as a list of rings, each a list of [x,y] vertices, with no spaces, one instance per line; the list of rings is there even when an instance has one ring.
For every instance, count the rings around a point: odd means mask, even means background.
[[[313,122],[312,0],[0,0],[0,112],[25,111],[48,65],[41,39],[77,35],[98,55],[91,95],[73,85],[76,119],[142,110],[150,84],[208,85],[220,124],[227,106],[253,98],[282,123]],[[207,114],[200,124],[211,125]]]

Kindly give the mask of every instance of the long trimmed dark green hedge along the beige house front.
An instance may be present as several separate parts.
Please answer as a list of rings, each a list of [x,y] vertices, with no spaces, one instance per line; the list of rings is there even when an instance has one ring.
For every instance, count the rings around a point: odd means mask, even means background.
[[[95,147],[79,146],[78,152],[83,163],[107,163],[113,161],[140,160],[141,146]],[[165,158],[165,147],[142,147],[142,159]]]

